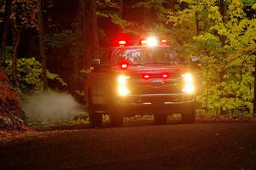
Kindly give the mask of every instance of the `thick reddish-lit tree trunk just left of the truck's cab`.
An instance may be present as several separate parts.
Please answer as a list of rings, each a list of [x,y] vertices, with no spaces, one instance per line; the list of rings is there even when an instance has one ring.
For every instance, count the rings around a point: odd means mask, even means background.
[[[90,67],[90,61],[99,57],[99,39],[96,19],[96,0],[79,0],[77,6],[77,20],[82,32],[83,55],[73,57],[73,89],[79,89],[79,71]]]

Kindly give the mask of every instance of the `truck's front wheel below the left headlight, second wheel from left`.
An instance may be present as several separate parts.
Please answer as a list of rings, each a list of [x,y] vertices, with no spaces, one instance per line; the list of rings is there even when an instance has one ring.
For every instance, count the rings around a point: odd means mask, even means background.
[[[123,114],[121,111],[116,109],[116,107],[112,107],[110,109],[109,119],[110,119],[111,127],[122,127],[123,126]]]

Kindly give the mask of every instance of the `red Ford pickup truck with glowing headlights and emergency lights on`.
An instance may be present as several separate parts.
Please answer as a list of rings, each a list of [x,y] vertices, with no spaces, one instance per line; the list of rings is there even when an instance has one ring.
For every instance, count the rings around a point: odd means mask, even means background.
[[[137,44],[119,41],[103,59],[91,61],[84,88],[91,127],[102,127],[103,114],[113,127],[135,115],[154,115],[156,124],[166,123],[170,114],[195,122],[193,66],[166,40],[148,37]],[[191,58],[192,65],[196,62]]]

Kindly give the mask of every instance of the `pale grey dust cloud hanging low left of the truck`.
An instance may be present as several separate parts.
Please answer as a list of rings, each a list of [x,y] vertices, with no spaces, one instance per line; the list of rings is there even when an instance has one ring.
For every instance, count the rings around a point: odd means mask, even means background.
[[[21,109],[27,122],[58,122],[81,115],[83,109],[70,94],[47,93],[26,96]]]

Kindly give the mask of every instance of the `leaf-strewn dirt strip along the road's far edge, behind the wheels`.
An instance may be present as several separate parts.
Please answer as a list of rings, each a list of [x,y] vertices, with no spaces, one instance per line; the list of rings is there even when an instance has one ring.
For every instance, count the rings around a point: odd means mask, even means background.
[[[167,124],[179,124],[180,117],[169,117]],[[197,115],[195,118],[196,123],[207,122],[256,122],[256,117],[252,116],[211,116],[211,115]],[[154,125],[153,116],[136,116],[125,118],[124,127],[132,126],[149,126]],[[104,127],[109,127],[109,122],[104,122]],[[26,138],[36,135],[45,135],[50,133],[59,133],[65,130],[79,130],[90,128],[89,123],[57,123],[46,125],[34,125],[23,127],[22,131],[18,130],[0,130],[0,142],[7,140],[14,140],[19,138]],[[52,132],[55,131],[55,132]]]

